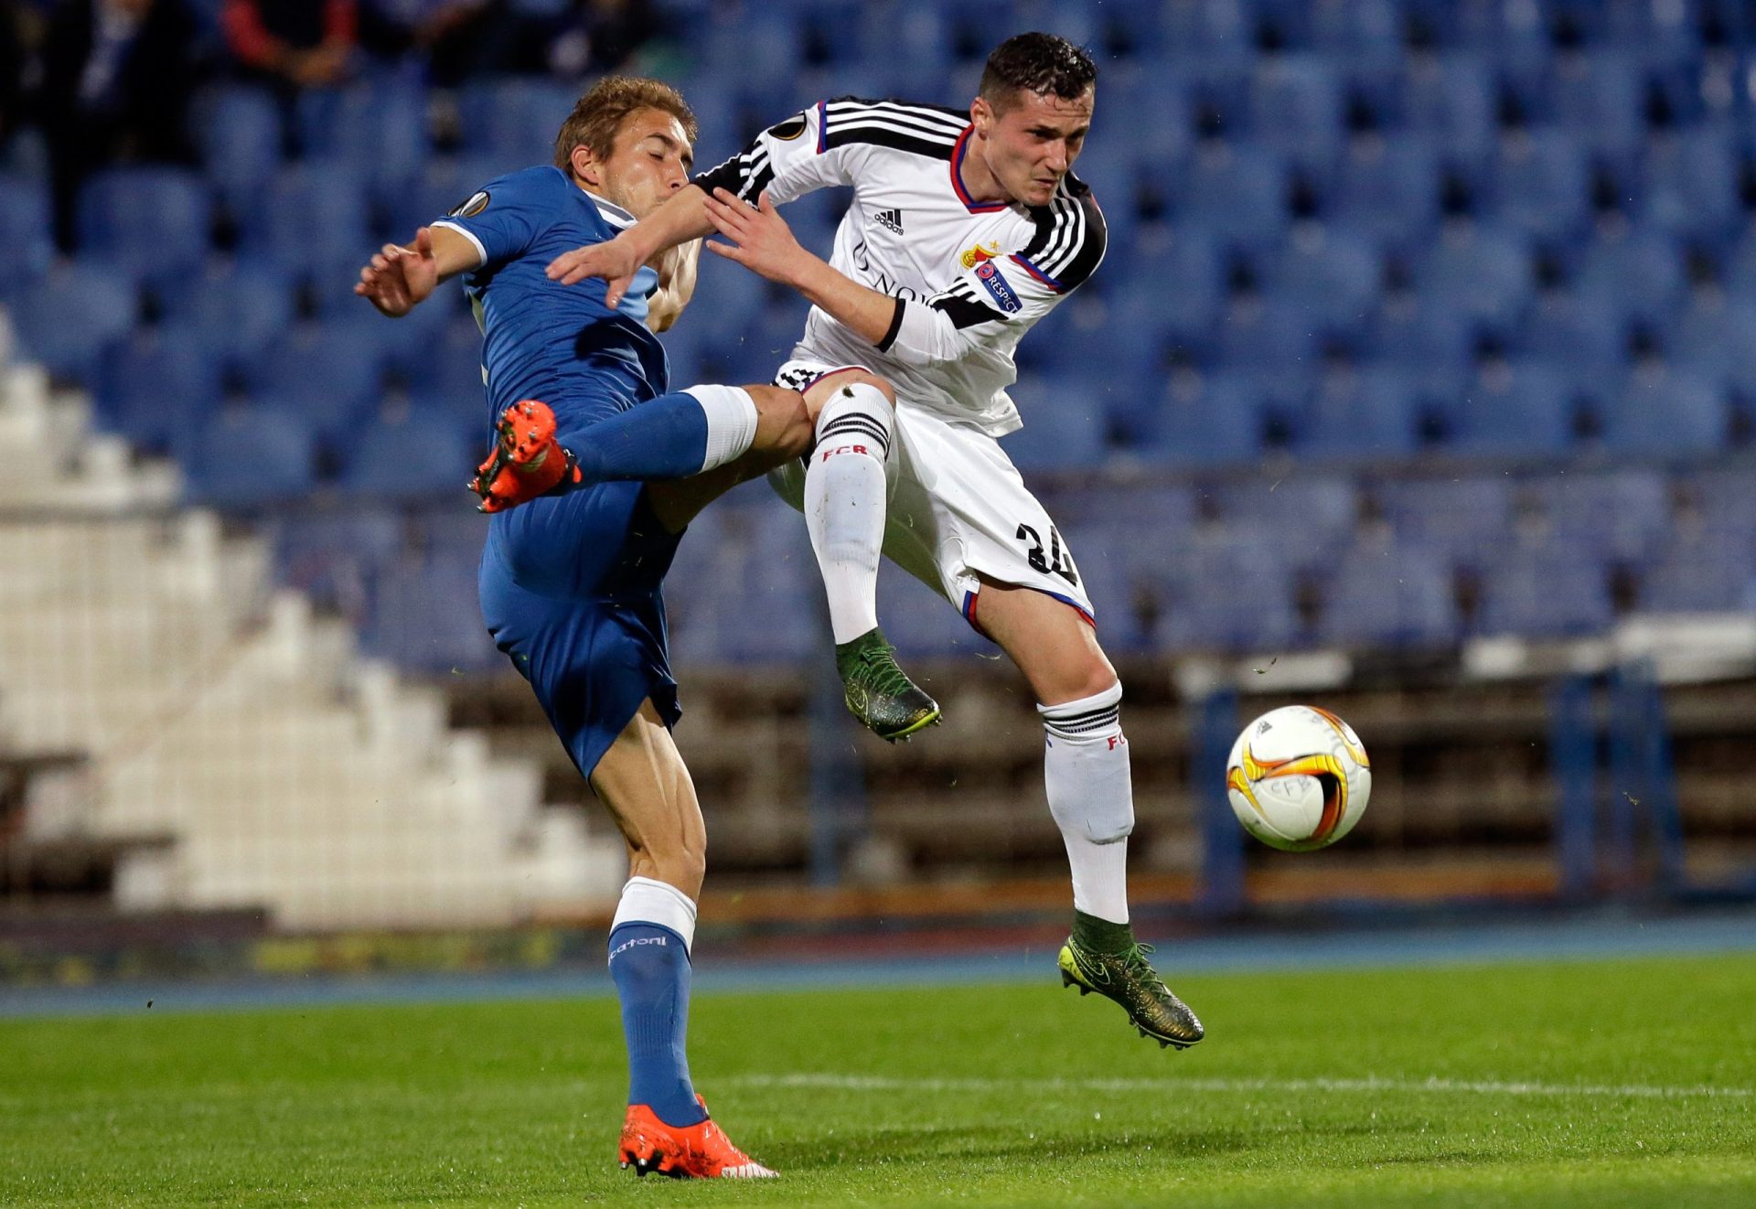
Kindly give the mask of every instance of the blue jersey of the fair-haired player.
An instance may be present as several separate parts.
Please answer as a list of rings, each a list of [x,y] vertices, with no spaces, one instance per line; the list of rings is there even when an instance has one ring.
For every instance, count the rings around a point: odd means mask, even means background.
[[[667,390],[664,346],[646,330],[658,274],[643,267],[615,311],[604,305],[604,283],[564,286],[544,275],[562,253],[632,223],[553,167],[495,177],[434,223],[481,254],[464,288],[485,340],[490,423],[518,400],[537,398],[555,409],[565,440]]]

